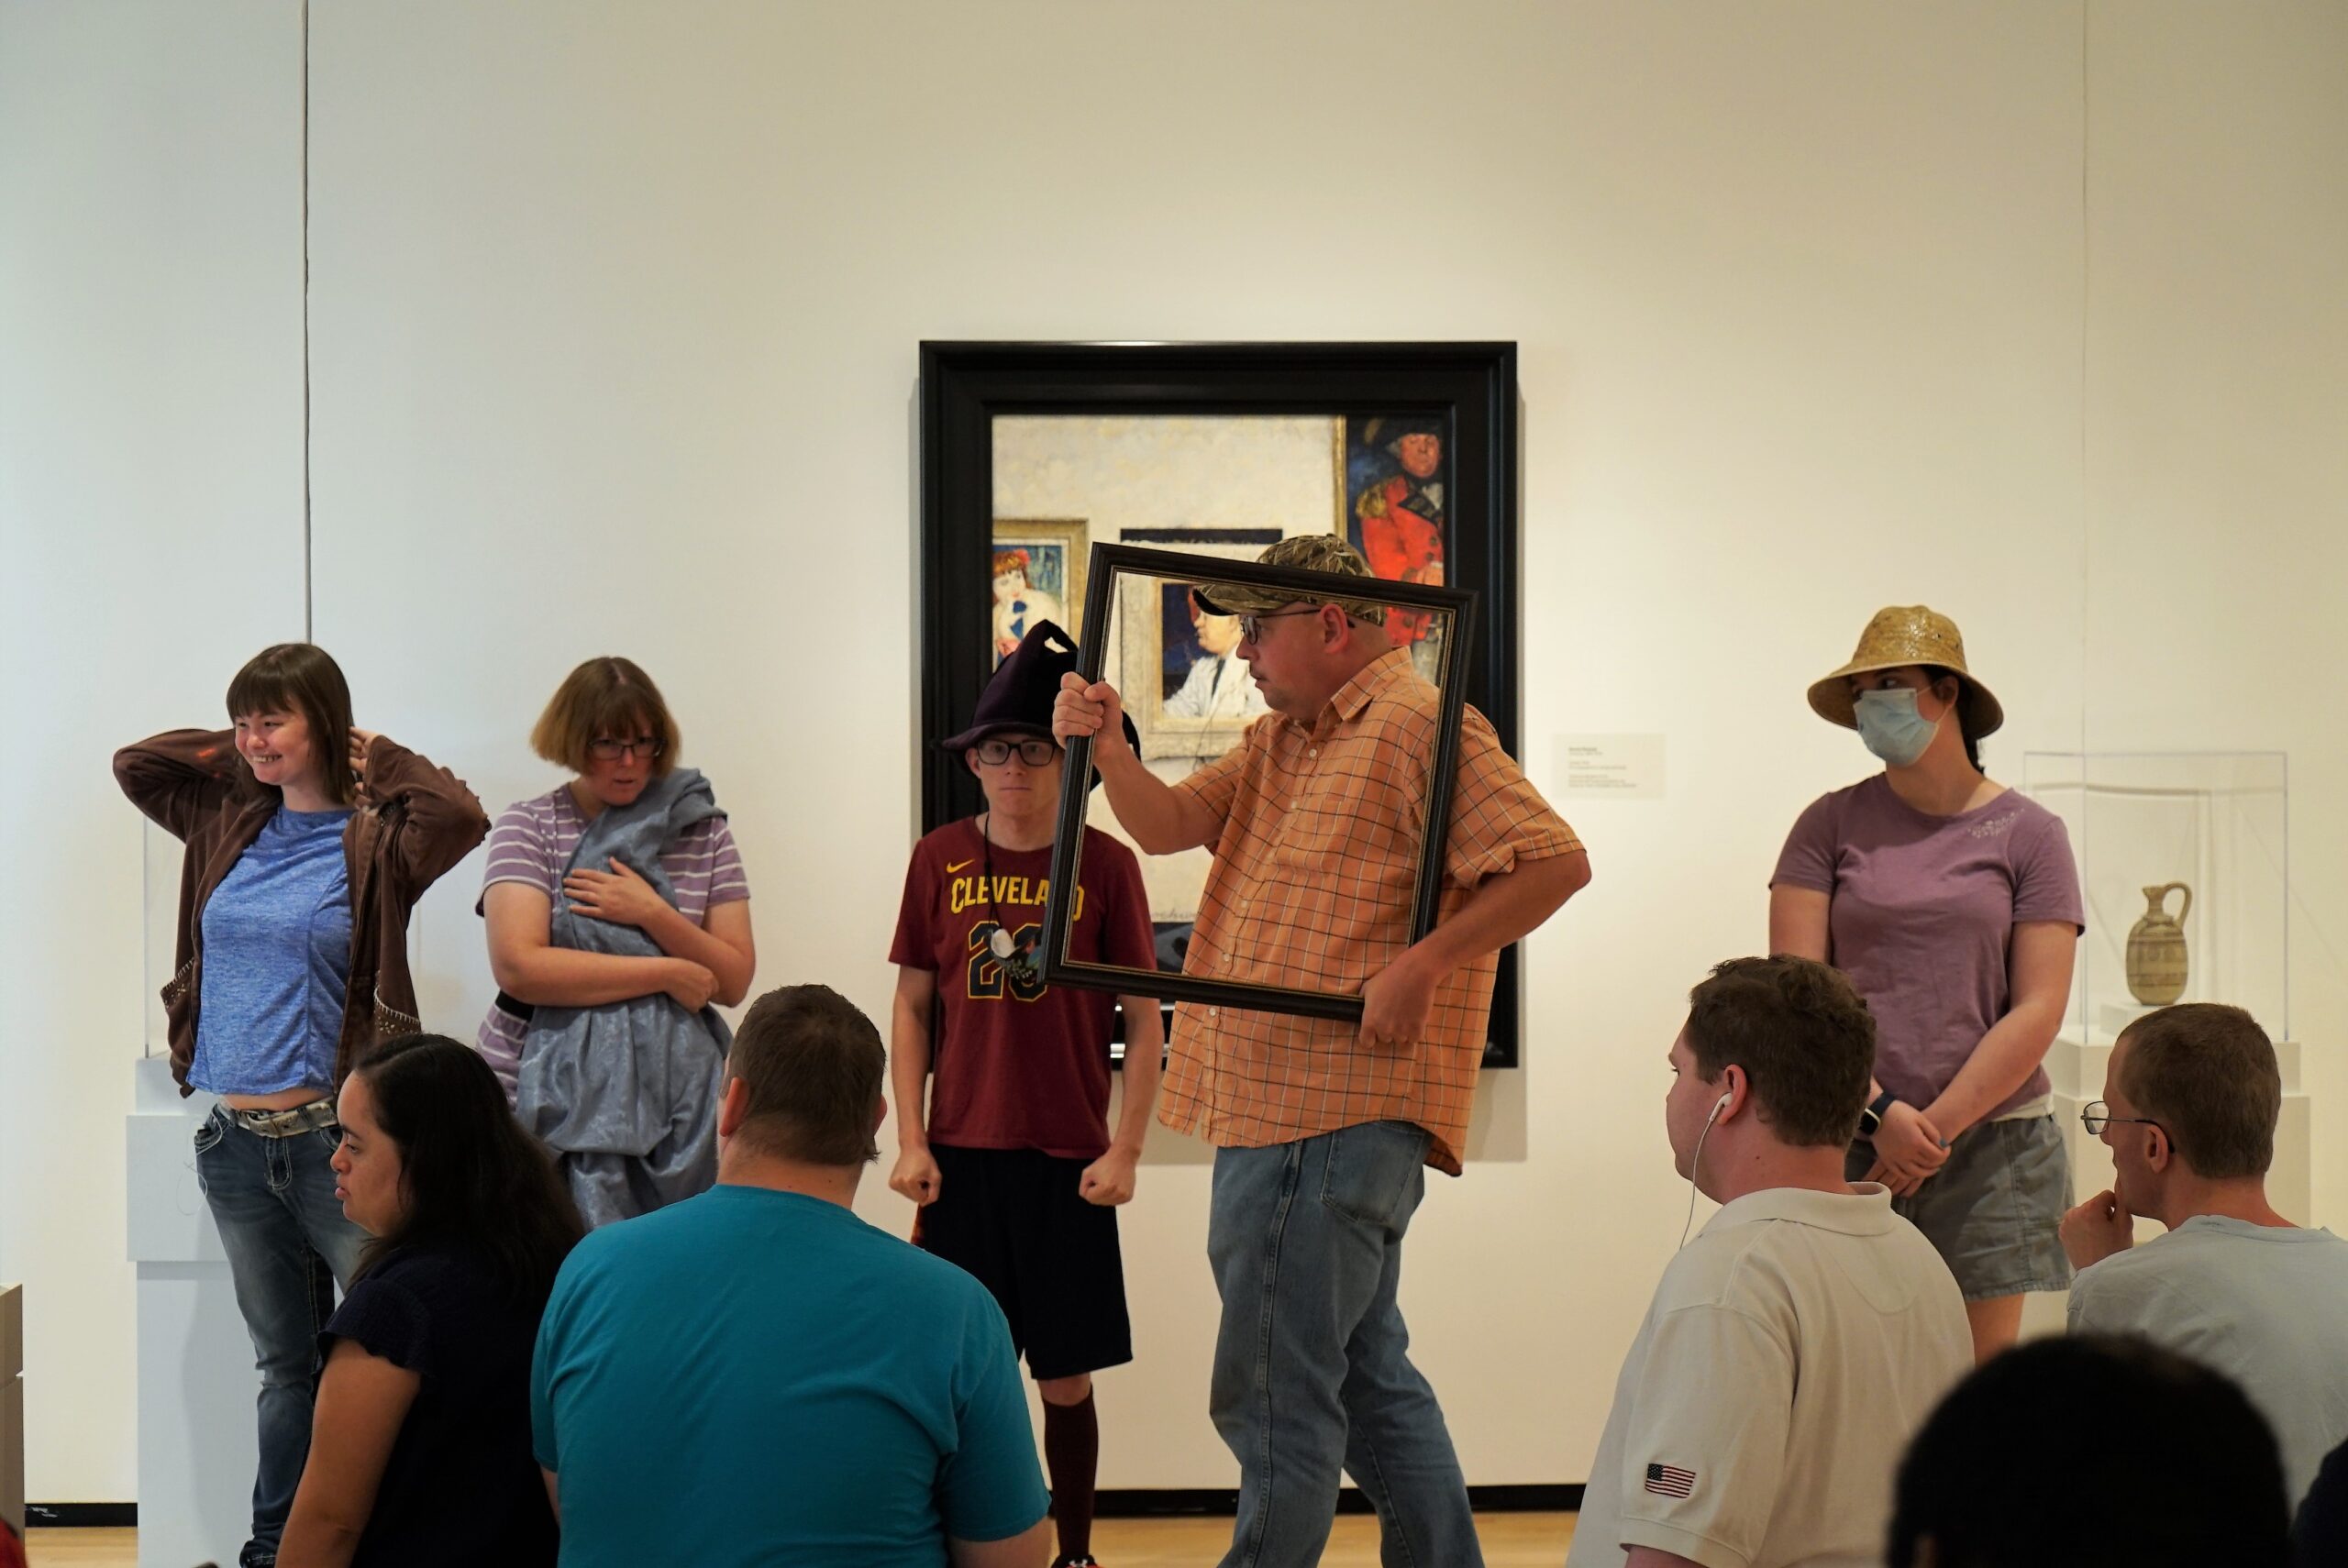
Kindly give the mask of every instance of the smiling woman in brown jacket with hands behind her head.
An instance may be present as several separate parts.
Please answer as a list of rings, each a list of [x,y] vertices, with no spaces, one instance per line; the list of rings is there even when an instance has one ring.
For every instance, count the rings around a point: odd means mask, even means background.
[[[195,1171],[261,1366],[237,1561],[268,1568],[310,1446],[317,1329],[366,1242],[333,1199],[333,1094],[359,1052],[420,1028],[409,911],[488,819],[453,772],[352,728],[350,685],[310,643],[261,650],[228,716],[124,746],[115,779],[188,845],[162,995],[181,1091],[221,1096]]]

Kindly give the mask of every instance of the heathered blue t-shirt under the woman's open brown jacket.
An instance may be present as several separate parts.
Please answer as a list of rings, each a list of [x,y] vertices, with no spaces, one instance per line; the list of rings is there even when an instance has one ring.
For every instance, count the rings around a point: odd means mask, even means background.
[[[350,984],[350,812],[277,807],[204,901],[188,1082],[209,1094],[331,1089]]]

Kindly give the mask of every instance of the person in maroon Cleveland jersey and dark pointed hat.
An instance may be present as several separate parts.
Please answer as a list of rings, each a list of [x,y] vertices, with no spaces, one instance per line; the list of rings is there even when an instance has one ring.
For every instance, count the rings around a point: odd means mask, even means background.
[[[1035,974],[1061,791],[1052,699],[1071,669],[1075,643],[1038,624],[986,683],[972,725],[942,742],[979,777],[986,810],[913,847],[890,948],[899,1148],[890,1185],[920,1204],[913,1239],[977,1275],[1026,1352],[1043,1394],[1054,1568],[1094,1561],[1092,1373],[1134,1359],[1115,1204],[1134,1195],[1165,1052],[1153,998],[1047,988]],[[1097,829],[1085,829],[1071,955],[1158,969],[1141,864]],[[1125,1106],[1111,1138],[1108,1035],[1120,1002]],[[944,1009],[935,1042],[932,1005]]]

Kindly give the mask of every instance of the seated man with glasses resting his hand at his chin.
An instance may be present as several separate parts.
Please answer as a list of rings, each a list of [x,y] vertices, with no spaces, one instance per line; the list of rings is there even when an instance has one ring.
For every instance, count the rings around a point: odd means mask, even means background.
[[[2240,1007],[2186,1002],[2111,1047],[2080,1113],[2113,1185],[2062,1221],[2073,1333],[2141,1333],[2242,1385],[2275,1427],[2296,1505],[2348,1439],[2348,1242],[2266,1199],[2282,1073]],[[2170,1235],[2134,1246],[2146,1216]]]

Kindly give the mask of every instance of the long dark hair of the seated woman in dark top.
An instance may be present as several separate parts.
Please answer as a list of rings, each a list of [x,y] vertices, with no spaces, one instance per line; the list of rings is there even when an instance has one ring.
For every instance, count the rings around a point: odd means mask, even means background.
[[[439,1246],[481,1258],[514,1300],[542,1305],[582,1235],[580,1216],[481,1054],[446,1035],[399,1035],[352,1070],[399,1145],[406,1197],[399,1223],[369,1242],[359,1275],[402,1246]]]

